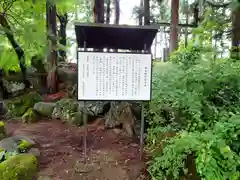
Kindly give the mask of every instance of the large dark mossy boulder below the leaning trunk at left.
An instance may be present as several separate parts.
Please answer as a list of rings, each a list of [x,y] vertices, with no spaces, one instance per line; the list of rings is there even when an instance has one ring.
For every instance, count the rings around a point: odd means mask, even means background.
[[[7,108],[13,116],[22,116],[29,108],[33,108],[34,104],[43,101],[40,94],[30,92],[23,96],[16,97],[8,102]]]

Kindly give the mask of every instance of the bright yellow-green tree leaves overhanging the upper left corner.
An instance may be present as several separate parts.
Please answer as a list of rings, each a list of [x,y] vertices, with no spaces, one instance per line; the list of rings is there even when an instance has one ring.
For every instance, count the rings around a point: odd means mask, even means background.
[[[91,11],[88,1],[79,0],[50,0],[51,3],[57,4],[58,14],[69,14],[69,20],[73,20],[72,16],[76,11],[84,14]],[[6,18],[11,27],[11,33],[14,35],[17,43],[24,50],[26,65],[31,65],[31,57],[38,54],[45,60],[49,50],[47,46],[46,36],[46,1],[45,0],[19,0],[19,1],[0,1],[0,13],[6,12]],[[85,8],[85,10],[84,10]],[[87,9],[87,10],[86,10]],[[89,16],[88,12],[88,16]],[[85,17],[85,20],[89,17]],[[82,18],[82,20],[84,20]],[[0,68],[5,71],[20,71],[16,53],[12,49],[8,39],[3,33],[0,25]],[[58,45],[58,48],[66,50],[66,47]]]

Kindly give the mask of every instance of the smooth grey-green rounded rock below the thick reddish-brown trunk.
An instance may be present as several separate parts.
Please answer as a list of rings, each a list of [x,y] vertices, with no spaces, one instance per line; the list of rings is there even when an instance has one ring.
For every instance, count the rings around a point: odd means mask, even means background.
[[[34,105],[33,109],[42,116],[51,117],[53,113],[53,109],[56,103],[50,102],[38,102]]]

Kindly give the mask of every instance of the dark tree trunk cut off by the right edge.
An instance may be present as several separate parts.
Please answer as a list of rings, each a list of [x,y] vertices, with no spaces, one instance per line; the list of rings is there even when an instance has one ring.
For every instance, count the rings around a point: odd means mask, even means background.
[[[231,58],[240,59],[240,7],[232,12],[232,50]]]

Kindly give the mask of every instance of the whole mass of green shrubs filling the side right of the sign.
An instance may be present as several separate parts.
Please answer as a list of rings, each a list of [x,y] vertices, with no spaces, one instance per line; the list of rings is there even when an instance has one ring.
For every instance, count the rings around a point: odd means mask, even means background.
[[[240,62],[216,58],[211,32],[222,27],[210,14],[188,47],[154,65],[147,114],[153,180],[240,178]]]

